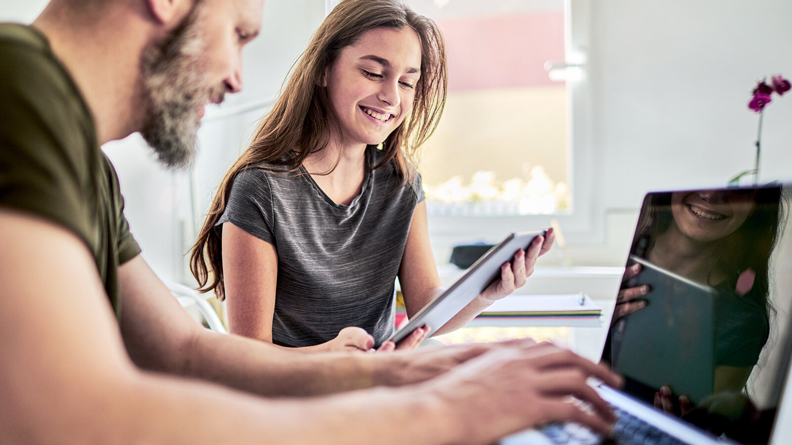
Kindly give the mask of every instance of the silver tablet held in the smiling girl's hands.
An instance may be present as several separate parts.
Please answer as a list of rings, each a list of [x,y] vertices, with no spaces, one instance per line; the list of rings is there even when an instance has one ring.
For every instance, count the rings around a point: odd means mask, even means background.
[[[489,249],[481,258],[470,266],[465,274],[456,280],[442,294],[428,302],[417,314],[409,319],[406,325],[398,329],[387,341],[399,341],[412,333],[413,330],[423,325],[431,329],[430,336],[441,326],[451,320],[460,310],[463,310],[478,294],[481,294],[489,284],[501,277],[501,265],[512,261],[514,254],[520,249],[527,249],[531,241],[538,236],[543,236],[544,230],[512,233],[505,240]]]

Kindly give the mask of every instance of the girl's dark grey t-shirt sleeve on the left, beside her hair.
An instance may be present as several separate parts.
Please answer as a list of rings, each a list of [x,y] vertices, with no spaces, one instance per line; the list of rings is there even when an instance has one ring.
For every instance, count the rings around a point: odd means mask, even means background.
[[[275,245],[268,174],[264,169],[245,169],[238,173],[231,185],[226,210],[215,223],[215,230],[220,230],[223,222],[230,222],[254,237]]]

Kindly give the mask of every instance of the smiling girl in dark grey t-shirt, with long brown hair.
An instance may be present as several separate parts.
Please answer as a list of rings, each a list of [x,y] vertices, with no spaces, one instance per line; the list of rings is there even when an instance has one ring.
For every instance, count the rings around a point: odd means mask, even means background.
[[[231,333],[306,351],[368,350],[394,331],[397,277],[408,316],[443,291],[415,155],[446,85],[439,29],[402,2],[345,0],[329,14],[192,249],[200,290],[227,299]],[[438,332],[522,286],[553,238],[548,230],[516,253]],[[417,329],[406,347],[424,335]]]

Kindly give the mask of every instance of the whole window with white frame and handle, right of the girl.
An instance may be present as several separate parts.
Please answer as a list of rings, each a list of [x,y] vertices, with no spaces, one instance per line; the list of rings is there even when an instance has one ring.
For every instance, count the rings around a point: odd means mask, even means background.
[[[326,1],[329,12],[337,1]],[[438,260],[460,242],[553,219],[567,242],[603,242],[588,0],[407,3],[437,22],[448,47],[447,105],[421,161]]]

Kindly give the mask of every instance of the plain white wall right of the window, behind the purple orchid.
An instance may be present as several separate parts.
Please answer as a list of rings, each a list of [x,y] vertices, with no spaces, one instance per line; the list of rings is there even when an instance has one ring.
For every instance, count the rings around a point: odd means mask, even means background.
[[[789,0],[592,2],[596,150],[606,208],[753,167],[763,76],[792,77]],[[792,95],[790,95],[792,96]],[[792,179],[792,97],[767,106],[760,180]]]

